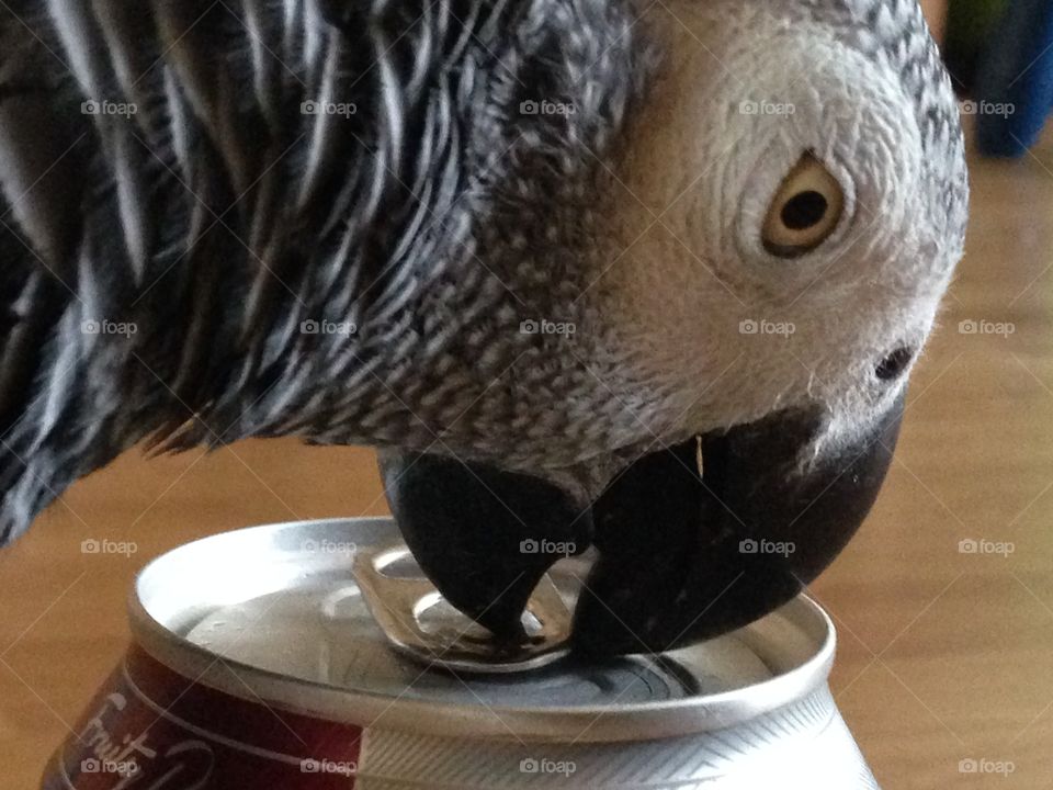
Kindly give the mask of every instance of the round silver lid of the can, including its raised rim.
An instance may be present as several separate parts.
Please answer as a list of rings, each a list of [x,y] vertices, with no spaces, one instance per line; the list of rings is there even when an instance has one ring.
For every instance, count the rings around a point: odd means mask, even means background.
[[[554,569],[541,603],[535,630],[545,636],[518,657],[532,670],[480,675],[492,656],[471,647],[465,654],[471,624],[427,595],[407,553],[383,548],[397,539],[390,519],[349,519],[258,527],[181,546],[139,575],[133,632],[177,672],[250,700],[363,726],[547,742],[731,726],[816,691],[833,663],[833,623],[801,597],[706,643],[575,664],[562,642],[587,568],[569,561]],[[396,583],[401,600],[382,628],[385,616],[374,618],[370,603],[374,613],[388,605]],[[435,656],[443,644],[462,653]]]

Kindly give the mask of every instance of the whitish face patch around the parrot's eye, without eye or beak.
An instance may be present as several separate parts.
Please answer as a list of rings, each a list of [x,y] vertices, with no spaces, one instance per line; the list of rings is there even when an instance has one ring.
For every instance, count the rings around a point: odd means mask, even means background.
[[[919,98],[905,64],[811,10],[676,0],[646,18],[676,59],[631,133],[602,298],[615,353],[669,394],[670,436],[819,405],[823,443],[851,440],[905,385],[875,370],[899,348],[917,359],[961,257],[961,142],[926,140],[919,122],[924,103],[956,111],[949,86]],[[779,258],[765,217],[808,153],[843,214],[817,249]]]

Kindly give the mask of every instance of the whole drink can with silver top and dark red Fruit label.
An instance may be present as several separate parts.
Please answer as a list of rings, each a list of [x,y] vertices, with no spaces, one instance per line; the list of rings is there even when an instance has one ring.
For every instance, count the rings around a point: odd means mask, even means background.
[[[471,663],[485,635],[397,542],[390,519],[309,521],[156,560],[132,594],[133,644],[43,790],[878,787],[834,704],[834,628],[809,599],[588,665],[535,623],[542,648],[494,674]],[[363,555],[383,560],[358,573],[369,583],[351,572]],[[585,562],[552,572],[567,611]],[[431,643],[455,658],[428,661]]]

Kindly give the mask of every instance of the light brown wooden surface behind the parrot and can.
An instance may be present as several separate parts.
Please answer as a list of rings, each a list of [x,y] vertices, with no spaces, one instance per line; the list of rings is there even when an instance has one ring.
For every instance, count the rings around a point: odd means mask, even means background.
[[[839,703],[886,789],[1053,787],[1053,144],[973,178],[969,257],[895,465],[814,590],[840,630]],[[961,334],[963,320],[1015,331]],[[149,557],[245,524],[384,510],[371,453],[292,441],[133,452],[75,486],[0,554],[0,785],[34,787],[117,661]],[[138,551],[81,553],[104,538]],[[1015,551],[962,554],[966,539]],[[964,776],[967,758],[1015,770]]]

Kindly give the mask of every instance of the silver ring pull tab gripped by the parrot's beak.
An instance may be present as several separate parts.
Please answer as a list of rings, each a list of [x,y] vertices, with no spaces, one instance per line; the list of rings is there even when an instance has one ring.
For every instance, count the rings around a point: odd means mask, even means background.
[[[403,655],[454,672],[503,675],[547,666],[570,652],[570,610],[547,575],[526,605],[525,641],[508,644],[496,642],[464,616],[454,619],[456,610],[426,578],[384,573],[407,560],[412,561],[412,554],[405,545],[369,549],[355,553],[352,566],[370,613]]]

